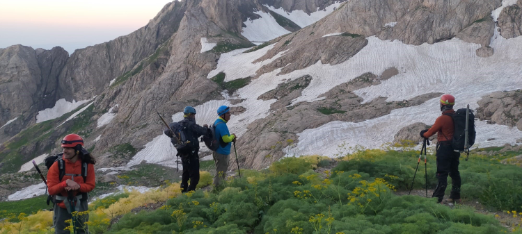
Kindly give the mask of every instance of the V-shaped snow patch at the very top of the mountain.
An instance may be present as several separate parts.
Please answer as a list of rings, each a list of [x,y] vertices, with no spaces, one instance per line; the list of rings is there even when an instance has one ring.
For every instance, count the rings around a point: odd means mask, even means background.
[[[269,8],[269,10],[278,13],[279,15],[283,15],[283,17],[286,17],[287,19],[292,20],[292,22],[296,23],[301,28],[304,28],[310,24],[313,24],[313,23],[319,21],[319,19],[324,18],[326,15],[329,15],[331,12],[333,12],[333,10],[339,8],[339,6],[341,6],[341,4],[342,4],[341,2],[333,3],[332,5],[324,8],[324,10],[319,10],[319,8],[317,8],[317,11],[310,13],[310,15],[308,15],[303,10],[292,10],[291,12],[287,12],[283,8],[276,9],[276,8],[274,8],[274,6],[268,6],[268,5],[264,5],[264,6]]]

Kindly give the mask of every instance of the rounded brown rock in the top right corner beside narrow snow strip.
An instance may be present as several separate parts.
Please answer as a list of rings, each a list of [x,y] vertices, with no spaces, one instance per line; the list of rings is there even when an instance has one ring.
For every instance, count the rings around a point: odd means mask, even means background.
[[[522,35],[522,0],[515,5],[505,7],[498,15],[500,35],[509,39]]]

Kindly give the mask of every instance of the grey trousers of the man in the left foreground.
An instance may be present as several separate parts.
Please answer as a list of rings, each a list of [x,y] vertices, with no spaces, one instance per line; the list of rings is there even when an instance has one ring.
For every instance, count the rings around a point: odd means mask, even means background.
[[[69,201],[63,201],[63,202],[69,202]],[[78,212],[86,211],[87,208],[87,201],[80,201],[80,208],[77,210]],[[54,205],[54,212],[53,212],[53,226],[54,226],[54,233],[56,234],[69,234],[70,231],[64,230],[66,227],[70,226],[69,223],[65,223],[65,220],[72,219],[72,215],[67,211],[65,208],[61,208],[58,205]],[[85,224],[86,221],[89,220],[89,215],[81,215],[77,216],[76,222],[74,223],[74,228],[76,229],[76,233],[88,233],[87,225]]]

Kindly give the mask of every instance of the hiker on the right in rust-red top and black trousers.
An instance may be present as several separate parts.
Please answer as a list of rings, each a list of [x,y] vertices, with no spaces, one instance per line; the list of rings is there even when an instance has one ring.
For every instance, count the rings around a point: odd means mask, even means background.
[[[427,130],[420,131],[420,136],[429,138],[437,133],[437,178],[438,184],[433,192],[432,197],[438,198],[438,203],[441,203],[444,199],[444,193],[448,186],[448,174],[451,177],[452,187],[450,199],[446,202],[460,202],[460,185],[461,178],[459,172],[459,158],[460,152],[454,151],[452,148],[453,139],[453,119],[454,114],[453,105],[455,104],[455,98],[450,94],[444,94],[441,97],[441,111],[442,115],[437,117],[435,124]]]

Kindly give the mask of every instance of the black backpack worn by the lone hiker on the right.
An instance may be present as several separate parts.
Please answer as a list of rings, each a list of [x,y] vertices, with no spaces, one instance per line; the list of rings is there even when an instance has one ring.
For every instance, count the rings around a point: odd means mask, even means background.
[[[454,114],[444,115],[451,116],[453,119],[452,148],[454,150],[464,151],[464,144],[466,144],[466,108],[461,108],[455,111]],[[473,115],[473,110],[470,110],[468,116],[468,149],[475,144],[475,135],[475,115]]]

